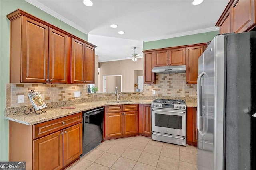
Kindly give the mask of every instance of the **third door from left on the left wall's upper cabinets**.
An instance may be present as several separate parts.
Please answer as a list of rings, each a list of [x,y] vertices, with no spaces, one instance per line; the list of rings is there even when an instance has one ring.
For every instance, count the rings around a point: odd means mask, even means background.
[[[72,38],[71,42],[71,83],[83,84],[85,83],[85,43],[74,38]]]

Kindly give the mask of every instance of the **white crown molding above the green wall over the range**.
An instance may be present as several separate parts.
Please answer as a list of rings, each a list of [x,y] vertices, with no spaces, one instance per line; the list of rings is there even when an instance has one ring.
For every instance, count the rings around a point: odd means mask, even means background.
[[[183,33],[176,33],[176,34],[171,34],[171,35],[164,35],[164,36],[159,36],[159,37],[150,37],[150,38],[145,38],[143,41],[148,42],[148,41],[156,41],[156,40],[162,40],[162,39],[168,39],[168,38],[174,38],[174,37],[182,37],[186,35],[193,35],[193,34],[198,34],[198,33],[206,33],[206,32],[212,32],[212,31],[219,31],[219,27],[210,27],[210,28],[205,28],[205,29],[197,29],[194,31],[187,31]]]

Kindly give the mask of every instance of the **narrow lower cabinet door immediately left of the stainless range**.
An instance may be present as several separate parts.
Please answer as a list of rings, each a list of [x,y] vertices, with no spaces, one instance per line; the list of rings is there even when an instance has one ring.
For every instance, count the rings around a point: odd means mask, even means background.
[[[143,105],[143,132],[151,136],[151,105]]]

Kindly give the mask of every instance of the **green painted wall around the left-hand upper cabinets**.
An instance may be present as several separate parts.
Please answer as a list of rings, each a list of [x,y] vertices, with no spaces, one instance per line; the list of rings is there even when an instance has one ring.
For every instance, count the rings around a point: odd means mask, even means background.
[[[9,123],[4,119],[5,84],[9,82],[10,59],[10,21],[6,18],[6,14],[18,8],[87,41],[87,34],[74,29],[24,0],[0,0],[0,161],[8,161],[9,153]]]

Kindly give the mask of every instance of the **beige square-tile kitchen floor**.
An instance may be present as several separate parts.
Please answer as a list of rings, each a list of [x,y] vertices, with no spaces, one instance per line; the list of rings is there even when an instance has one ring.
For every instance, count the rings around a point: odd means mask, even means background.
[[[136,136],[101,143],[68,170],[197,170],[197,149]]]

